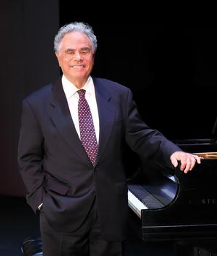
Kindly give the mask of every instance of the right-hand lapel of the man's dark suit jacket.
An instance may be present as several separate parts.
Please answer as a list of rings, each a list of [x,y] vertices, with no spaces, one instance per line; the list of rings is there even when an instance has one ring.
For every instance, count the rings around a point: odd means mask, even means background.
[[[103,155],[103,151],[106,148],[109,137],[111,135],[111,129],[114,124],[115,108],[109,102],[111,99],[111,94],[106,91],[105,86],[98,79],[93,78],[95,84],[95,97],[98,104],[98,114],[100,120],[100,136],[98,145],[98,158]],[[96,163],[97,163],[96,162]]]

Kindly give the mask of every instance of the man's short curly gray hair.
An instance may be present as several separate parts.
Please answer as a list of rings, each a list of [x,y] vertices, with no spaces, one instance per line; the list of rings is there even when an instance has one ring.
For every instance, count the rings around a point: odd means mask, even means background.
[[[60,42],[63,39],[63,37],[73,31],[79,31],[82,32],[84,34],[87,35],[87,37],[90,39],[90,42],[92,44],[94,53],[97,49],[97,39],[96,36],[92,30],[92,27],[90,25],[88,25],[87,23],[82,23],[82,22],[73,22],[73,23],[69,23],[66,24],[64,26],[62,26],[59,31],[58,34],[56,34],[55,36],[55,40],[54,40],[54,50],[55,51],[60,51]]]

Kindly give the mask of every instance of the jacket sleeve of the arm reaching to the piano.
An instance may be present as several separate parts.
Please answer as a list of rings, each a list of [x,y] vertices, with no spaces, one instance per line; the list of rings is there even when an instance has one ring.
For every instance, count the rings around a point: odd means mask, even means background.
[[[175,151],[181,151],[162,133],[151,129],[141,118],[138,108],[133,101],[133,94],[129,90],[125,108],[125,139],[130,148],[143,159],[157,159],[163,165],[173,167],[170,156]]]

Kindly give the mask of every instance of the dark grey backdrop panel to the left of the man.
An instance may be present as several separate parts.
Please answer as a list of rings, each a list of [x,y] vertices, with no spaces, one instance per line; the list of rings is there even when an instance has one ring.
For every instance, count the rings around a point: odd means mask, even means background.
[[[57,0],[1,1],[0,194],[25,194],[17,172],[21,103],[25,95],[59,75],[52,50],[58,27]]]

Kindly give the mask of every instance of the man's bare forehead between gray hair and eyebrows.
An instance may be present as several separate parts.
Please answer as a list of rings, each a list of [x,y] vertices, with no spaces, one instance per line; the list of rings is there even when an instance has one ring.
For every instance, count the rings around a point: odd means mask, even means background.
[[[92,48],[92,45],[87,35],[79,31],[73,31],[66,34],[60,42],[61,49],[83,47]]]

